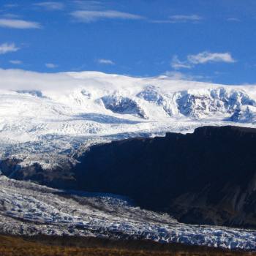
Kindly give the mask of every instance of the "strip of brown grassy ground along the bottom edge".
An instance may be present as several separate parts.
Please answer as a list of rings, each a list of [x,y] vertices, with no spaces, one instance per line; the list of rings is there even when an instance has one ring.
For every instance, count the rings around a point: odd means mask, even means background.
[[[220,256],[256,255],[206,246],[158,244],[147,241],[110,241],[99,238],[0,236],[1,256]]]

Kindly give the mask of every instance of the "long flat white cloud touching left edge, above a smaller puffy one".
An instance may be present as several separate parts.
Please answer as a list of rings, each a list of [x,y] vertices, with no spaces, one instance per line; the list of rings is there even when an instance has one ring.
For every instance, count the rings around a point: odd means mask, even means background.
[[[40,29],[37,22],[18,20],[18,19],[0,19],[0,27],[11,29]]]

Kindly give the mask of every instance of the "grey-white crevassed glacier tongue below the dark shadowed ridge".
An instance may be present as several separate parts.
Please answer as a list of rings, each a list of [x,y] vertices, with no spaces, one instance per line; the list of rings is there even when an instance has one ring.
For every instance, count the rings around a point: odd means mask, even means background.
[[[256,249],[256,233],[186,225],[117,195],[64,192],[0,176],[0,232],[21,235],[142,238],[229,249]]]

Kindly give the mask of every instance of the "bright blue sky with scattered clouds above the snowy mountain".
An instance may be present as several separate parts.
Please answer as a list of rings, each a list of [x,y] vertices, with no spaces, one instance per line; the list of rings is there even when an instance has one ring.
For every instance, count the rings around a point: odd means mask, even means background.
[[[0,68],[256,83],[255,0],[0,0]]]

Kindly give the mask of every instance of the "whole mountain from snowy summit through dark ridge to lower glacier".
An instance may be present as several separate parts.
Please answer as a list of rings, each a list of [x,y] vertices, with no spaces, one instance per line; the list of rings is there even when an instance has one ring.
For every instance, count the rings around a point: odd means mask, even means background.
[[[255,86],[0,77],[0,233],[256,248]]]

